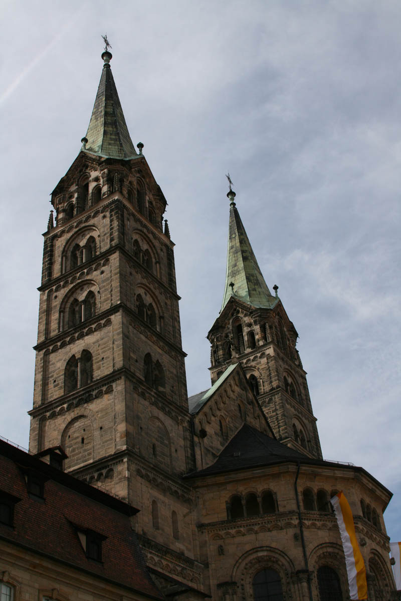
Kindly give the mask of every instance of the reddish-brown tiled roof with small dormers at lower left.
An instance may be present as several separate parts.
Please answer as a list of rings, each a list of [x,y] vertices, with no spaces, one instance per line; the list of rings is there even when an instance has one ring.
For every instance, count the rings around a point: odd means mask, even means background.
[[[24,472],[29,469],[45,480],[44,502],[28,495]],[[130,524],[138,510],[1,440],[0,490],[21,499],[14,508],[14,528],[0,523],[3,540],[162,599]],[[105,537],[102,563],[86,557],[75,526]]]

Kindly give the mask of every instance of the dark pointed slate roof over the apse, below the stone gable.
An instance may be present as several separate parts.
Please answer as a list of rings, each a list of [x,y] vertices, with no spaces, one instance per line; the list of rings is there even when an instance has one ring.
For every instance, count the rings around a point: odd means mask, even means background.
[[[221,451],[213,465],[187,474],[186,477],[207,476],[219,474],[219,472],[255,468],[269,465],[269,463],[277,463],[278,461],[305,459],[309,459],[309,457],[281,444],[281,442],[259,432],[259,430],[248,424],[243,424],[242,428]]]

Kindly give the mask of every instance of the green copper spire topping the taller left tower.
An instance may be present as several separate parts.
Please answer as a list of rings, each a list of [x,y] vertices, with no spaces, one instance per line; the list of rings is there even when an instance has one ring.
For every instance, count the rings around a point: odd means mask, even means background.
[[[102,54],[102,77],[97,89],[86,139],[82,150],[111,159],[132,159],[138,156],[129,136],[123,109],[110,69],[111,52]]]

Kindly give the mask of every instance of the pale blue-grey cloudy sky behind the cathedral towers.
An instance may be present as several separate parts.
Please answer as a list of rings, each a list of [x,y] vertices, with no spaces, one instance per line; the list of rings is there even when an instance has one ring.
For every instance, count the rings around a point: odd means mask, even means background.
[[[230,171],[298,349],[326,459],[394,492],[401,540],[401,3],[2,2],[1,435],[28,446],[49,193],[81,147],[102,38],[168,201],[188,392],[210,385]]]

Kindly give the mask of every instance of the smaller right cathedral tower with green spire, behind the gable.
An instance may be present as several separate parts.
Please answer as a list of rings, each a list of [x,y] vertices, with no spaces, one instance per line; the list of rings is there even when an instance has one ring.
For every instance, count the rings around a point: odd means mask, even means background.
[[[283,304],[271,293],[230,200],[227,273],[221,311],[207,335],[212,344],[212,383],[240,362],[275,436],[289,447],[322,458],[306,372],[296,349],[298,334]]]

